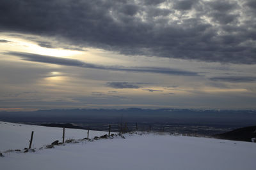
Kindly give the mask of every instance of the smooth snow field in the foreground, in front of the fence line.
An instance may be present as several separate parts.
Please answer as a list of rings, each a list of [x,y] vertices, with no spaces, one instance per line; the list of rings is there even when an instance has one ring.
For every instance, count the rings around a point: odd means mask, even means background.
[[[1,122],[1,145],[4,132]],[[23,125],[22,125],[23,126]],[[29,127],[29,126],[28,126]],[[26,128],[28,128],[26,127]],[[35,127],[36,129],[45,127]],[[58,129],[58,128],[56,128]],[[17,129],[16,129],[17,130]],[[28,129],[26,129],[28,130]],[[31,130],[31,129],[29,129]],[[37,131],[37,130],[36,130]],[[52,128],[54,131],[54,128]],[[60,129],[57,131],[60,134]],[[77,137],[83,136],[84,132]],[[83,130],[82,130],[83,131]],[[18,131],[16,131],[19,133]],[[28,136],[29,136],[28,132]],[[36,134],[36,132],[35,132]],[[106,134],[106,132],[105,132]],[[75,137],[75,136],[74,136]],[[83,138],[83,137],[82,137]],[[55,139],[55,138],[54,138]],[[17,142],[19,139],[17,139]],[[26,139],[26,142],[28,139]],[[48,143],[51,143],[52,139]],[[255,143],[156,134],[83,141],[35,153],[7,153],[1,169],[255,169]]]

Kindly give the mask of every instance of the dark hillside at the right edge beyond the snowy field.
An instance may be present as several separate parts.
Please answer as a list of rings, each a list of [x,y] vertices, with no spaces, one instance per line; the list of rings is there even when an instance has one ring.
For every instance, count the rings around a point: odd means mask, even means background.
[[[256,138],[256,126],[243,127],[223,134],[215,134],[213,137],[218,139],[252,142],[252,138]]]

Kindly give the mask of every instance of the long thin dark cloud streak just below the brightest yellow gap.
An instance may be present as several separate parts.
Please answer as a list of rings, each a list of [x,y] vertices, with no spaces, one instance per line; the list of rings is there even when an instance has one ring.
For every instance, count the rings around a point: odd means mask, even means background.
[[[22,60],[28,60],[33,62],[43,62],[49,64],[58,64],[61,66],[75,66],[84,67],[91,69],[104,69],[111,71],[127,71],[137,73],[159,73],[159,74],[170,74],[178,76],[200,76],[198,73],[192,71],[182,71],[180,69],[170,69],[164,67],[109,67],[100,66],[96,64],[89,64],[75,59],[66,59],[61,57],[52,57],[47,55],[38,55],[35,53],[24,53],[24,52],[6,52],[6,55],[15,55],[21,57]]]

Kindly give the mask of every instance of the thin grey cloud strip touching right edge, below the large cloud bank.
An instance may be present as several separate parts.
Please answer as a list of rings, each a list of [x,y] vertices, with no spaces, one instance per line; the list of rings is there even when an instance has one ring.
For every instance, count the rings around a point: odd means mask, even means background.
[[[228,81],[231,83],[243,83],[256,81],[255,76],[223,76],[223,77],[212,77],[212,81]]]

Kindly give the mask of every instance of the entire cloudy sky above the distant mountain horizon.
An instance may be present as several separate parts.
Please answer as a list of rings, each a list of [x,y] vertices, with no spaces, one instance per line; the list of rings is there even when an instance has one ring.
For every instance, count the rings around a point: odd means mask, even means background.
[[[256,109],[254,0],[2,0],[0,111]]]

